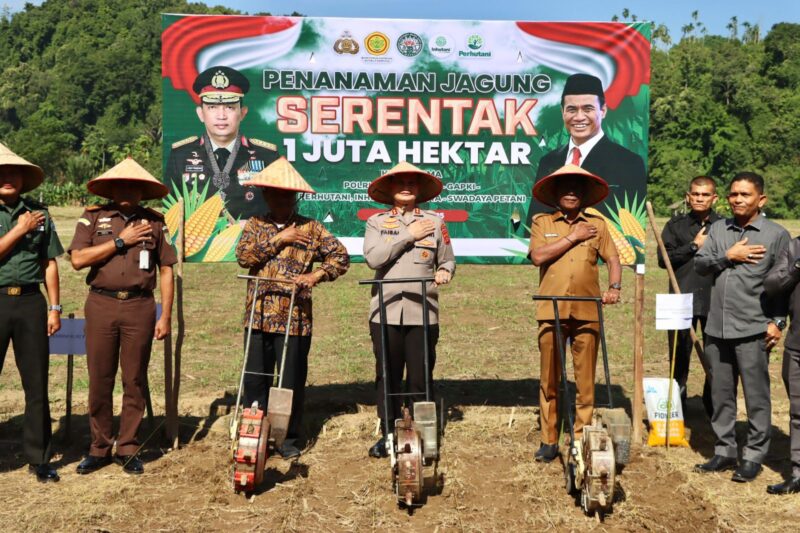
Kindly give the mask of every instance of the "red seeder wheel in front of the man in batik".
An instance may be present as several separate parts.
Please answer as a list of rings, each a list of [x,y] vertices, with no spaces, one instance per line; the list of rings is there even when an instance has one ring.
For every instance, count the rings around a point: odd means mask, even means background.
[[[237,493],[253,492],[264,480],[268,440],[269,421],[254,402],[242,412],[239,439],[233,452],[233,490]]]

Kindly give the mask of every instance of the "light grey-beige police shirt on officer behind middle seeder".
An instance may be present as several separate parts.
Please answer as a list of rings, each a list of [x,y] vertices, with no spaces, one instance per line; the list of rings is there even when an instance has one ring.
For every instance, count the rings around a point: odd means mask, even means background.
[[[436,224],[433,235],[414,241],[408,231],[415,220],[428,219]],[[375,279],[433,277],[437,270],[456,272],[456,257],[444,221],[433,211],[400,214],[397,209],[372,215],[364,235],[364,259],[374,269]],[[428,321],[439,323],[439,291],[428,283]],[[383,301],[388,324],[422,325],[422,287],[420,283],[384,285]],[[372,287],[369,319],[380,322],[378,287]]]

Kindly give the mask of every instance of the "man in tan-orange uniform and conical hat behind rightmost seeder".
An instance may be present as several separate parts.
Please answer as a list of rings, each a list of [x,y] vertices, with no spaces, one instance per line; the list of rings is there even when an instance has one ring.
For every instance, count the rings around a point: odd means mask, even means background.
[[[605,221],[583,211],[608,195],[601,178],[575,165],[566,165],[533,186],[533,195],[556,211],[533,218],[529,256],[539,270],[539,294],[545,296],[600,296],[597,259],[608,264],[609,288],[603,303],[619,301],[622,280],[617,250]],[[590,424],[594,410],[594,378],[599,324],[594,302],[559,302],[558,313],[564,343],[572,345],[577,387],[575,438]],[[540,302],[539,321],[541,378],[539,409],[542,444],[537,461],[550,462],[558,455],[558,385],[561,357],[555,339],[555,316],[550,302]]]

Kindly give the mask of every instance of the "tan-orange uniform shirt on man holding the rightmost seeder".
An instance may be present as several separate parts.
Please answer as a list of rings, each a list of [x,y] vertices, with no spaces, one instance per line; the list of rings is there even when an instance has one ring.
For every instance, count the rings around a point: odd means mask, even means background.
[[[581,213],[574,223],[588,222],[597,228],[597,235],[574,245],[561,257],[539,268],[539,291],[542,296],[600,296],[597,258],[608,262],[617,256],[617,249],[605,221],[595,215]],[[572,224],[560,212],[542,213],[533,219],[530,252],[568,236]],[[562,319],[597,320],[594,302],[559,302]],[[551,302],[537,302],[536,320],[555,320]]]

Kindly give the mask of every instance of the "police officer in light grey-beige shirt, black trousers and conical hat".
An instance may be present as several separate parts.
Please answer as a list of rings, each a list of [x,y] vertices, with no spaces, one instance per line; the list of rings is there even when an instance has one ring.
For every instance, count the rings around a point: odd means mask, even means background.
[[[409,163],[400,163],[375,179],[367,190],[370,197],[392,208],[372,215],[364,235],[364,259],[375,270],[375,279],[432,277],[427,288],[430,367],[436,362],[439,340],[439,285],[450,282],[456,258],[444,221],[419,204],[436,198],[442,182]],[[422,330],[422,294],[419,283],[394,283],[383,287],[387,321],[387,366],[389,389],[399,392],[406,371],[407,392],[424,394],[425,361]],[[369,332],[375,353],[378,416],[383,419],[386,386],[380,364],[381,328],[378,289],[373,287]],[[402,400],[394,396],[389,420],[401,418]],[[381,430],[384,431],[383,424]],[[385,435],[370,449],[371,457],[386,457]]]

